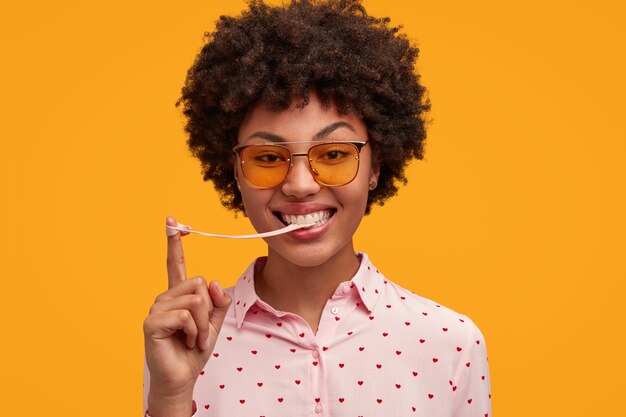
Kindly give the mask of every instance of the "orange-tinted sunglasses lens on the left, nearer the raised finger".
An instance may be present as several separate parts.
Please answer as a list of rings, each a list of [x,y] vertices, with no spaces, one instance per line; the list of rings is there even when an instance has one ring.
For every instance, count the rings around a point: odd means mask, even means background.
[[[275,145],[250,146],[241,152],[241,169],[254,187],[272,188],[289,172],[289,150]]]

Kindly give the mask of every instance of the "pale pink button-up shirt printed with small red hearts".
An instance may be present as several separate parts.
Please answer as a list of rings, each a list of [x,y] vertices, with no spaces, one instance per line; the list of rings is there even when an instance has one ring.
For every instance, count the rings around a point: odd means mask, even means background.
[[[253,262],[195,386],[197,417],[489,417],[485,341],[466,316],[386,279],[361,256],[317,334],[258,298]],[[146,371],[145,387],[149,386]],[[147,408],[147,388],[144,410]]]

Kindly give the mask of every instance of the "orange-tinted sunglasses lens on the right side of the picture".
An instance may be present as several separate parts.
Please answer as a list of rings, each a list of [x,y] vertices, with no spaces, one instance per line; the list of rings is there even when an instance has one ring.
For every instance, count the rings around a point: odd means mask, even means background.
[[[309,150],[311,169],[320,184],[345,185],[359,170],[359,150],[351,143],[324,143]]]

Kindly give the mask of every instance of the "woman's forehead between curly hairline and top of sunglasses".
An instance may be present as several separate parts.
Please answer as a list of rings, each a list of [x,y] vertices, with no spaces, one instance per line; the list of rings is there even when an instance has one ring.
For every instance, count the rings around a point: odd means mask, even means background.
[[[253,106],[239,127],[239,144],[251,142],[259,132],[276,135],[285,141],[323,140],[324,129],[329,130],[326,132],[329,136],[339,135],[344,140],[367,139],[367,128],[358,117],[341,114],[332,105],[324,107],[315,95],[311,95],[306,106],[298,106],[301,102],[301,99],[294,99],[289,108],[278,112],[264,104]]]

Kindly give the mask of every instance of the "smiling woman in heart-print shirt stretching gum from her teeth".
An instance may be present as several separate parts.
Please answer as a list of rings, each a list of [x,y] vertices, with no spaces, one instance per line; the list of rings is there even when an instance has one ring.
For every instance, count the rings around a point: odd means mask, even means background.
[[[474,323],[353,247],[422,157],[417,52],[359,0],[253,1],[221,18],[180,100],[190,149],[257,231],[311,226],[266,238],[267,257],[226,290],[187,279],[170,233],[169,289],[144,323],[146,414],[491,415]]]

